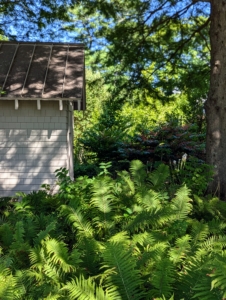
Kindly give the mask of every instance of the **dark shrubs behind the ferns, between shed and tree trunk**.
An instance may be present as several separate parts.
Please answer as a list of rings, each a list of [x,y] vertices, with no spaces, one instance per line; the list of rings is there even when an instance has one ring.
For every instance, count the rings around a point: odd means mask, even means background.
[[[80,132],[75,145],[75,177],[96,176],[99,165],[111,162],[111,173],[128,170],[132,160],[140,160],[150,170],[159,162],[180,165],[185,154],[188,161],[194,159],[203,164],[206,159],[205,126],[183,124],[178,118],[146,128],[134,127],[130,116],[120,115],[120,109],[104,106],[98,122]],[[131,129],[131,127],[133,129]],[[197,165],[197,164],[195,164]]]

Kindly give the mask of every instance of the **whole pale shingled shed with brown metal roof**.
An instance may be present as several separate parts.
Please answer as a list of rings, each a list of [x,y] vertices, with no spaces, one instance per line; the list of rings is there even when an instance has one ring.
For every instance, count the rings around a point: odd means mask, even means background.
[[[0,197],[73,177],[73,110],[85,109],[81,44],[0,45]]]

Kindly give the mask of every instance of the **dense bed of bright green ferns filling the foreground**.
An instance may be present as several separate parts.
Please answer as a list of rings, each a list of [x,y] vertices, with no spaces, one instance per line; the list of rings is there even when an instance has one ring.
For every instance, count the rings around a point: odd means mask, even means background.
[[[109,166],[1,200],[0,299],[226,298],[226,203],[164,164]]]

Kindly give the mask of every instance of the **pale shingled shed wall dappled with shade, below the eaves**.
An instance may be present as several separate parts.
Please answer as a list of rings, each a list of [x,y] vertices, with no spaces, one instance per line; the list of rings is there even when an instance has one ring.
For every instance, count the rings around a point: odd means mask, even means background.
[[[72,174],[72,113],[64,102],[0,99],[0,197],[53,185],[60,167]],[[70,147],[68,147],[70,145]],[[71,156],[71,157],[70,157]]]

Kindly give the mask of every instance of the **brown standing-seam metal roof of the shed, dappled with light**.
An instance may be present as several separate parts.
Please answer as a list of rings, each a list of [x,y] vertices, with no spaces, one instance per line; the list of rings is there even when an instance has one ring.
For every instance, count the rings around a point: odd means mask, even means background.
[[[0,89],[0,100],[70,100],[85,109],[83,44],[1,42]]]

